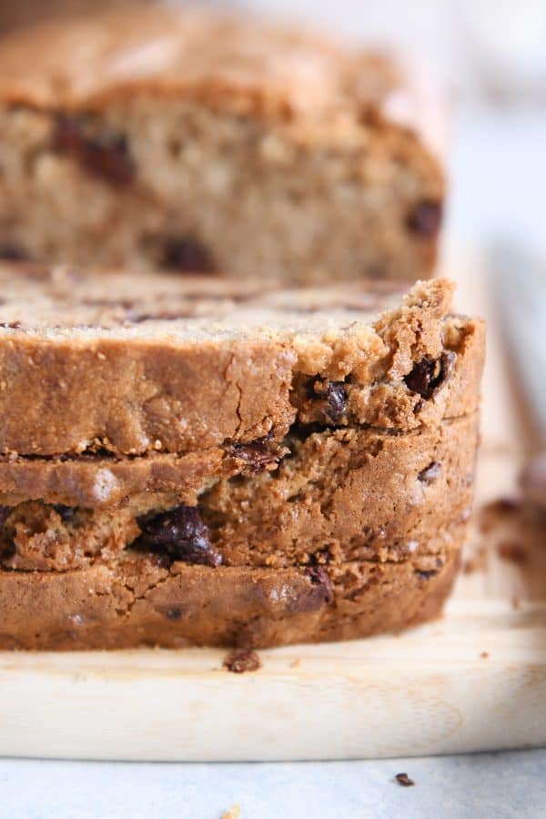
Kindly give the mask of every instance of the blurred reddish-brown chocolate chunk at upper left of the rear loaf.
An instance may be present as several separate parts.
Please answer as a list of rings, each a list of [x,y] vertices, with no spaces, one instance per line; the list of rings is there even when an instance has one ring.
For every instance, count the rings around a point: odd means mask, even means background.
[[[54,147],[62,154],[76,157],[87,173],[105,179],[114,187],[127,187],[136,174],[126,137],[103,128],[94,136],[86,135],[83,117],[61,115],[57,118]]]

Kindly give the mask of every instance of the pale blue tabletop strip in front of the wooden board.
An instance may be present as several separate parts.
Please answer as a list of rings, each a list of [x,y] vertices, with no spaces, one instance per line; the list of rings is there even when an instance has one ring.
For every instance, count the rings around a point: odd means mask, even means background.
[[[407,772],[414,787],[393,782]],[[9,819],[541,819],[546,750],[346,763],[0,761]]]

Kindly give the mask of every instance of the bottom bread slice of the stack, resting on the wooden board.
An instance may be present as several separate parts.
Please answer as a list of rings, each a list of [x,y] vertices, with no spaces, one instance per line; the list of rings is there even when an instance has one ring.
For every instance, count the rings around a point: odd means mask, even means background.
[[[443,558],[289,569],[212,568],[126,556],[77,571],[0,571],[0,649],[259,648],[399,632],[437,617],[464,525]]]

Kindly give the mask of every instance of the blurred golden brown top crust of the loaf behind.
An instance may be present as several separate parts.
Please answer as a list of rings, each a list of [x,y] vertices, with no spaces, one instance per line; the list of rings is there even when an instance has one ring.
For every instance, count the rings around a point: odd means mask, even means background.
[[[401,84],[381,56],[198,9],[138,8],[39,25],[7,36],[0,55],[0,98],[54,110],[151,92],[241,113],[261,108],[324,122],[350,112],[357,121]]]

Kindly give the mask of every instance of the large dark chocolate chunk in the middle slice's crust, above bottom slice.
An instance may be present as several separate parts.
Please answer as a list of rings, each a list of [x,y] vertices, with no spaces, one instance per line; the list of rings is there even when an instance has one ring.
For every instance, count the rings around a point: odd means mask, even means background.
[[[146,515],[137,522],[142,534],[131,544],[132,549],[159,552],[173,561],[204,566],[217,566],[222,562],[195,506],[181,504],[157,515]]]

